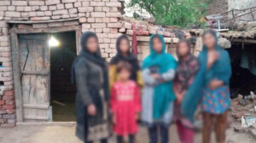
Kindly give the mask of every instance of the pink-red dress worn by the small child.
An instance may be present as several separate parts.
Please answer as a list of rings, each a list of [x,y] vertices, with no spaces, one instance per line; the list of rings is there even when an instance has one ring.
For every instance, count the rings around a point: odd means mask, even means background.
[[[136,113],[141,112],[141,100],[137,83],[116,82],[111,94],[111,111],[116,117],[113,131],[118,135],[136,134]]]

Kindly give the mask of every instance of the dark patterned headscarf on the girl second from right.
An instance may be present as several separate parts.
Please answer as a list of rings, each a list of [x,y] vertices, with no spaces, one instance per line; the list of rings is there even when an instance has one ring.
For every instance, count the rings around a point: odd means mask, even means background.
[[[189,50],[183,58],[179,53],[179,45],[186,43]],[[178,57],[177,71],[174,79],[175,88],[178,92],[189,89],[189,86],[193,83],[194,77],[199,69],[198,60],[191,54],[191,46],[188,40],[182,39],[177,43],[176,53]]]

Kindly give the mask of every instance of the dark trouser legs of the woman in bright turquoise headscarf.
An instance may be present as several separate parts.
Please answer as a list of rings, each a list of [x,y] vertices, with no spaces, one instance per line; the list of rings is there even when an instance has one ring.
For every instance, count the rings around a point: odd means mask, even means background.
[[[169,129],[166,126],[153,126],[151,128],[148,128],[149,143],[158,142],[158,130],[160,130],[160,143],[168,143]]]

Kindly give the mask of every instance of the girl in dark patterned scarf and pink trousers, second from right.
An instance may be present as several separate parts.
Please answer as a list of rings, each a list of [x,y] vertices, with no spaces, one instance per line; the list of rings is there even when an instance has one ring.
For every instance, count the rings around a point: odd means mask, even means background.
[[[174,110],[174,121],[177,125],[177,133],[182,143],[193,143],[193,124],[188,118],[183,117],[180,105],[183,96],[191,83],[193,83],[196,72],[199,70],[198,60],[191,54],[188,40],[180,40],[177,43],[177,72],[174,79],[174,93],[176,94],[176,104]]]

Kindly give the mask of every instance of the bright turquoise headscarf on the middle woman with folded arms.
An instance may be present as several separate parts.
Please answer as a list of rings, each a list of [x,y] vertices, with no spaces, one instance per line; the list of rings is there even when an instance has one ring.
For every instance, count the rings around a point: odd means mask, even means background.
[[[153,49],[153,39],[159,38],[162,43],[162,51],[158,54]],[[150,54],[143,60],[143,69],[157,66],[159,74],[176,69],[177,62],[171,54],[166,53],[166,43],[164,37],[160,34],[154,34],[149,40]],[[154,86],[154,109],[153,117],[158,119],[162,117],[168,110],[170,102],[175,100],[175,95],[172,90],[172,81],[159,83]]]

